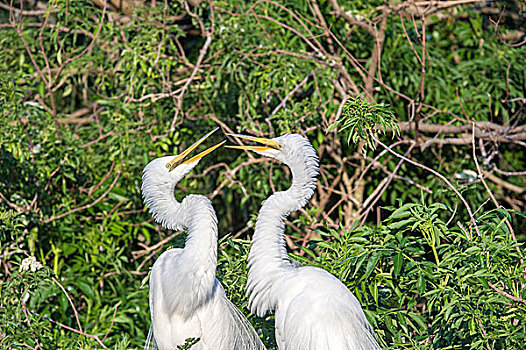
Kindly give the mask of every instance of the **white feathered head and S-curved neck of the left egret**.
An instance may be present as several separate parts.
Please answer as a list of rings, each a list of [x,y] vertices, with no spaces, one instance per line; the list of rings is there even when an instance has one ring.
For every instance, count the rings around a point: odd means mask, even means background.
[[[175,186],[191,168],[168,172],[164,167],[166,162],[166,159],[160,158],[160,161],[154,160],[145,168],[142,192],[156,222],[170,230],[188,230],[183,252],[177,259],[167,261],[163,269],[167,273],[177,272],[180,277],[173,285],[166,286],[166,290],[173,296],[186,298],[186,301],[178,303],[178,297],[174,297],[173,304],[190,305],[192,307],[186,309],[191,310],[205,302],[215,288],[217,218],[212,203],[205,196],[191,194],[181,203],[176,200]],[[183,287],[184,290],[180,289]],[[189,295],[192,291],[197,292]]]

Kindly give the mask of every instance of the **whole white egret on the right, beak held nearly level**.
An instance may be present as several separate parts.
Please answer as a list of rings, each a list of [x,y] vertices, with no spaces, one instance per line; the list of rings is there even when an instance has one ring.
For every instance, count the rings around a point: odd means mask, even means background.
[[[379,349],[374,331],[356,297],[325,270],[291,263],[284,220],[312,197],[318,157],[297,134],[274,139],[229,134],[264,146],[227,146],[275,158],[292,172],[292,184],[262,205],[248,256],[247,294],[253,313],[275,311],[280,350]]]

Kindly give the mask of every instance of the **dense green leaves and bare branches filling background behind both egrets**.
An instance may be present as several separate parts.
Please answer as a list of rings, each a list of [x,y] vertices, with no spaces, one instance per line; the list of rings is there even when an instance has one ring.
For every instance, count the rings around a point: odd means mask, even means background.
[[[521,348],[525,28],[520,1],[0,2],[1,347],[142,347],[149,269],[184,244],[142,169],[219,126],[311,140],[291,256],[344,281],[385,348]],[[220,149],[176,190],[213,201],[247,315],[257,211],[289,175]]]

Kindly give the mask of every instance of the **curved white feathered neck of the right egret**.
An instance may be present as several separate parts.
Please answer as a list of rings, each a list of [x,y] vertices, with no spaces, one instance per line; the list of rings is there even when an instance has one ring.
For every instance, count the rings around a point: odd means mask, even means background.
[[[252,311],[260,316],[273,309],[279,298],[270,292],[273,283],[294,269],[285,246],[285,219],[307,204],[316,187],[318,161],[312,147],[301,156],[287,160],[286,164],[292,171],[292,185],[284,192],[274,193],[263,203],[248,257],[247,291]]]

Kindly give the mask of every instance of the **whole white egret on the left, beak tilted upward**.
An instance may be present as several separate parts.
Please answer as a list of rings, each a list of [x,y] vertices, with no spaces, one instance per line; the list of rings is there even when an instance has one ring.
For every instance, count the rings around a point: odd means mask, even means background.
[[[177,349],[188,338],[200,338],[192,350],[265,348],[215,277],[217,218],[210,200],[191,194],[179,203],[174,195],[199,160],[224,143],[186,160],[214,131],[181,154],[157,158],[144,168],[142,193],[155,221],[170,230],[188,230],[185,247],[164,252],[152,267],[146,349]]]

